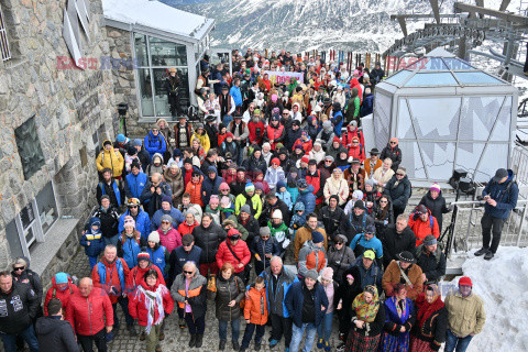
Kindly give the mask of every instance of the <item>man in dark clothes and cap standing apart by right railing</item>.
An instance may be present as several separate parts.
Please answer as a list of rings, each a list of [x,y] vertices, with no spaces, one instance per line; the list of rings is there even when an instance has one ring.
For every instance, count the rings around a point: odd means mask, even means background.
[[[517,206],[519,187],[514,178],[513,170],[499,168],[482,191],[485,200],[481,220],[482,249],[475,252],[475,256],[484,255],[484,258],[490,261],[497,252],[504,223],[512,209]]]

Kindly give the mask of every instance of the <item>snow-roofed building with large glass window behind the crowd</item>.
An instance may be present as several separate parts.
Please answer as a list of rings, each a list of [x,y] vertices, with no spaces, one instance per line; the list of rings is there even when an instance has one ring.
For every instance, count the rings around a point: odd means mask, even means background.
[[[129,106],[129,134],[144,135],[157,119],[170,120],[164,88],[170,67],[182,79],[182,106],[196,106],[199,62],[209,48],[215,20],[158,1],[102,0],[102,4],[118,68],[112,70],[116,101]]]

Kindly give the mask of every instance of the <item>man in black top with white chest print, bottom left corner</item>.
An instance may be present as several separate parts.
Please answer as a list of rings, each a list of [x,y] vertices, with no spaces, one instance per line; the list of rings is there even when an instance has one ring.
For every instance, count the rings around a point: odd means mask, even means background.
[[[33,319],[40,301],[29,285],[13,283],[11,273],[0,272],[0,337],[6,352],[16,351],[16,338],[21,337],[31,352],[38,351]]]

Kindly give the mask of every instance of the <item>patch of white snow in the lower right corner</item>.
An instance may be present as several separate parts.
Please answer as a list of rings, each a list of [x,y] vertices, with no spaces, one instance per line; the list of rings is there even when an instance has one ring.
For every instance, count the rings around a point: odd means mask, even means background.
[[[528,351],[528,248],[501,246],[492,261],[470,254],[462,270],[486,310],[484,330],[468,352]],[[459,278],[446,283],[442,294]]]

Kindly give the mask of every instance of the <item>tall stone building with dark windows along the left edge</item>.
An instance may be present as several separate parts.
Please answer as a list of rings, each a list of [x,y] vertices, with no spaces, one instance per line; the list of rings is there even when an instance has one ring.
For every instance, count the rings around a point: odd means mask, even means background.
[[[48,283],[77,250],[113,135],[109,53],[99,0],[0,0],[1,268],[25,255]]]

